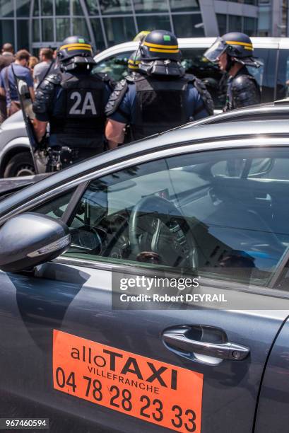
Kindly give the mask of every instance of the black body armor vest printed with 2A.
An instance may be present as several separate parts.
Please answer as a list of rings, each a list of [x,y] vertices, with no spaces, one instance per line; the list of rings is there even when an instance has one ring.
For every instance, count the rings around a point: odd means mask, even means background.
[[[103,144],[105,82],[88,74],[63,74],[60,86],[62,91],[49,120],[50,134],[78,138],[81,146],[85,139],[93,139],[93,146]]]

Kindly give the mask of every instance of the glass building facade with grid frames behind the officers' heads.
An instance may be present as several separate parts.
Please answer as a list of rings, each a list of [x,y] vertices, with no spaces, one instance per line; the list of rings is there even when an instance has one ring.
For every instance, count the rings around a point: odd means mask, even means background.
[[[37,52],[73,34],[97,50],[162,28],[179,37],[204,36],[196,0],[0,0],[0,45]]]

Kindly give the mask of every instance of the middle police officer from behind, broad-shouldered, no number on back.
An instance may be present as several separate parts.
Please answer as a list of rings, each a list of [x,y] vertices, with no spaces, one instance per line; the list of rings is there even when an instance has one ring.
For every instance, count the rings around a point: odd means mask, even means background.
[[[204,84],[184,72],[175,35],[153,30],[139,50],[136,75],[117,83],[105,110],[111,149],[123,142],[128,124],[132,139],[141,139],[213,114],[213,100]]]

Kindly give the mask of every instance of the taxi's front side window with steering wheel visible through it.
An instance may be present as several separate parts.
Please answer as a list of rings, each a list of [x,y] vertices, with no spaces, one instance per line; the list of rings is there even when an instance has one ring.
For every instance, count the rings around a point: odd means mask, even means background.
[[[287,177],[264,178],[276,161]],[[165,158],[95,179],[71,216],[66,255],[197,267],[221,279],[266,284],[289,246],[288,168],[287,150],[235,149]]]

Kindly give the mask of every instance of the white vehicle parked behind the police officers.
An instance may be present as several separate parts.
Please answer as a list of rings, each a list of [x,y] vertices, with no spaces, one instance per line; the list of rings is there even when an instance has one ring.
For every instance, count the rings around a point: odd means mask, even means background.
[[[182,50],[183,63],[187,72],[204,79],[214,98],[216,109],[220,111],[224,105],[224,101],[218,96],[222,74],[218,66],[210,64],[203,57],[205,50],[213,43],[213,40],[213,37],[180,38],[179,47]],[[289,38],[252,37],[252,41],[255,47],[254,54],[263,62],[263,66],[259,69],[250,69],[261,86],[261,102],[287,97]],[[114,80],[122,79],[127,72],[129,56],[137,46],[138,42],[131,41],[114,45],[100,52],[95,56],[95,62],[97,62],[95,72],[107,72]],[[285,108],[283,107],[282,110]],[[0,177],[33,175],[34,173],[35,168],[30,156],[23,117],[18,112],[6,120],[0,128]]]

